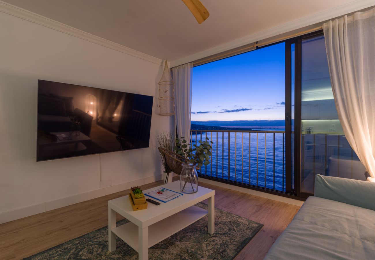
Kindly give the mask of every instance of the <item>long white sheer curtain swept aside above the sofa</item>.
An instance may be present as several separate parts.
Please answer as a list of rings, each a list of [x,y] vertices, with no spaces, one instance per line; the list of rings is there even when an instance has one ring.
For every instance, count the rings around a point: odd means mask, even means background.
[[[323,24],[345,137],[375,182],[375,8]]]

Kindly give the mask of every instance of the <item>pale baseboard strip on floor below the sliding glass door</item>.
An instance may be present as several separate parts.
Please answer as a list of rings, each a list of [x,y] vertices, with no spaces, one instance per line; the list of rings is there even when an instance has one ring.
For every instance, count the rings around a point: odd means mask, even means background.
[[[231,184],[226,184],[226,183],[222,183],[219,181],[208,180],[204,178],[199,178],[198,182],[208,183],[208,184],[216,185],[216,186],[223,187],[226,189],[237,190],[239,192],[248,193],[251,195],[256,195],[259,197],[267,198],[270,200],[276,200],[276,201],[280,201],[280,202],[284,202],[284,203],[288,203],[288,204],[292,204],[296,206],[302,206],[302,204],[304,203],[304,201],[301,201],[301,200],[294,200],[292,198],[286,198],[286,197],[282,197],[282,196],[278,196],[278,195],[274,195],[274,194],[270,194],[266,192],[261,192],[258,190],[247,189],[244,187],[234,186]]]

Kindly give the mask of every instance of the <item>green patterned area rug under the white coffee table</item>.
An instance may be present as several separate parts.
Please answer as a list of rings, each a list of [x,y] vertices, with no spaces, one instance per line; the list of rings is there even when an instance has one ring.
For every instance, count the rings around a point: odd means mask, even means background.
[[[207,204],[196,206],[207,210]],[[178,219],[176,219],[178,221]],[[129,222],[123,219],[117,226]],[[149,259],[233,259],[262,224],[215,208],[215,233],[208,234],[207,216],[148,249]],[[108,227],[77,237],[25,259],[138,259],[138,253],[117,238],[108,251]]]

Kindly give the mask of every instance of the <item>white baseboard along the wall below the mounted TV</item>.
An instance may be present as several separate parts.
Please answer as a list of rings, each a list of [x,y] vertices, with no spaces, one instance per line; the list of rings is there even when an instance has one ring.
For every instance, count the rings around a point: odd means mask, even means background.
[[[121,190],[130,189],[132,186],[141,186],[143,184],[151,183],[154,181],[162,180],[163,175],[155,175],[135,181],[130,181],[127,183],[121,183],[115,186],[110,186],[103,189],[92,190],[89,192],[80,193],[77,195],[60,198],[57,200],[46,201],[43,203],[23,207],[20,209],[10,210],[7,212],[0,213],[0,224],[13,221],[20,218],[26,218],[38,213],[46,212],[53,209],[58,209],[61,207],[69,206],[72,204],[80,203],[87,200],[92,200],[98,197],[109,195],[112,193],[119,192]]]

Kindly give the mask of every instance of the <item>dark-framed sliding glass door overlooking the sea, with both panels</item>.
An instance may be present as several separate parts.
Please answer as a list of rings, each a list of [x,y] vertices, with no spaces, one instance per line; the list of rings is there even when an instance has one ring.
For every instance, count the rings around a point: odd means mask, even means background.
[[[338,119],[322,32],[193,69],[191,140],[204,178],[308,197],[317,174],[365,180]]]

